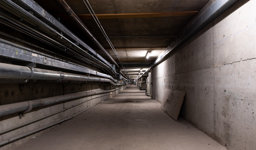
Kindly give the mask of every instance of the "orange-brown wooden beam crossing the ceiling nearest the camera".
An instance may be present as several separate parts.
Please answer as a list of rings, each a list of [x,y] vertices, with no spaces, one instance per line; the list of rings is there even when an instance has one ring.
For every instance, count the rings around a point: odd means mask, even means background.
[[[119,13],[119,14],[97,14],[98,19],[111,18],[150,18],[150,17],[170,17],[170,16],[195,16],[198,11],[180,11],[180,12],[165,12],[165,13]],[[56,15],[57,16],[57,15]],[[78,14],[80,19],[92,19],[90,14]],[[66,16],[61,16],[66,19]]]

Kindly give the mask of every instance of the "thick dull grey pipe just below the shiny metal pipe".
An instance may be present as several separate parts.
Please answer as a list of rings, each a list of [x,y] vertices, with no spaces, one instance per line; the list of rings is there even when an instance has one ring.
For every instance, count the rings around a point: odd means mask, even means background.
[[[36,99],[32,101],[25,101],[25,102],[19,102],[14,104],[6,104],[0,106],[0,117],[10,115],[13,113],[20,113],[25,111],[31,111],[33,108],[38,108],[42,106],[48,106],[51,104],[60,103],[63,101],[69,101],[76,98],[81,98],[89,95],[96,95],[96,94],[102,94],[102,93],[108,93],[112,91],[116,91],[118,89],[121,89],[123,87],[111,89],[111,90],[102,90],[102,91],[89,91],[89,92],[79,92],[79,93],[72,93],[67,95],[60,95],[60,96],[54,96],[50,98],[42,98],[42,99]]]

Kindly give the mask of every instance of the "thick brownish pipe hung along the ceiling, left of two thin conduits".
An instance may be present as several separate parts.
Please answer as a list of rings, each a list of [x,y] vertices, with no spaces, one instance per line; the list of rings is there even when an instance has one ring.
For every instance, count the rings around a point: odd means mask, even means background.
[[[71,19],[73,19],[74,22],[76,22],[76,24],[83,30],[84,33],[86,33],[86,35],[92,40],[93,43],[95,43],[102,52],[104,52],[104,54],[106,56],[108,56],[108,58],[110,58],[110,60],[118,67],[119,65],[117,64],[117,62],[109,55],[109,53],[106,51],[106,49],[104,49],[104,47],[98,42],[98,40],[92,35],[92,33],[89,31],[89,29],[87,29],[87,27],[83,24],[83,22],[78,18],[78,16],[76,16],[76,14],[73,12],[73,10],[68,6],[68,4],[64,1],[64,0],[54,0],[66,13],[68,16],[70,16]]]

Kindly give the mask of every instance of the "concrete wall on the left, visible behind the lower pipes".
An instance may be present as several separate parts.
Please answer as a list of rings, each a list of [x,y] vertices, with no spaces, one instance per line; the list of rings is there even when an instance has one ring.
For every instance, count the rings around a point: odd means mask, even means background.
[[[0,84],[0,105],[12,104],[23,101],[30,101],[39,98],[48,98],[58,95],[66,95],[70,93],[77,93],[81,91],[99,91],[99,90],[109,90],[120,86],[107,86],[107,85],[92,85],[92,84],[61,84],[61,83],[43,83],[43,84]],[[114,92],[113,92],[114,93]],[[62,110],[64,108],[73,106],[74,104],[78,104],[80,102],[86,101],[91,98],[95,98],[83,104],[80,104],[76,107],[73,107],[64,112],[58,113],[54,116],[48,117],[41,121],[35,122],[33,124],[27,125],[25,127],[19,128],[17,130],[8,132],[6,134],[0,135],[0,141],[6,140],[8,138],[17,136],[19,134],[23,134],[25,132],[31,131],[33,129],[40,128],[42,126],[48,125],[53,122],[57,122],[61,119],[65,119],[70,117],[80,111],[96,104],[97,102],[108,98],[110,93],[104,93],[100,95],[92,95],[88,97],[83,97],[75,100],[65,101],[63,103],[53,104],[46,107],[33,109],[29,113],[24,113],[23,117],[20,119],[18,113],[14,113],[8,116],[0,117],[0,131],[14,127],[16,125],[20,125],[22,123],[26,123],[32,121],[34,119],[38,119],[40,117],[49,115],[56,111]],[[103,96],[101,98],[96,98],[99,96]],[[47,129],[45,130],[47,131]],[[0,146],[0,150],[11,149],[31,138],[42,134],[45,131],[41,131],[39,133],[27,136],[20,140],[17,140],[13,143],[9,143],[5,146]]]

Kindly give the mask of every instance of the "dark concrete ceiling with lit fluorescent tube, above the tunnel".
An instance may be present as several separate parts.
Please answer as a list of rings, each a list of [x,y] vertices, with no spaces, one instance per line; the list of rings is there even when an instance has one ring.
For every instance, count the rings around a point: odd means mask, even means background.
[[[60,20],[68,29],[80,37],[89,46],[96,50],[103,58],[109,59],[93,44],[81,29],[64,13],[52,0],[35,0],[47,12]],[[101,45],[120,64],[108,42],[103,37],[93,19],[86,19],[83,15],[90,14],[82,0],[65,0],[71,9],[80,17],[85,26],[92,32]],[[130,76],[134,71],[147,68],[155,58],[176,40],[181,30],[195,16],[196,13],[181,16],[150,17],[145,13],[169,13],[184,11],[199,11],[209,0],[89,0],[97,14],[124,14],[114,18],[99,19],[112,44],[116,48],[123,65]],[[143,13],[143,17],[131,16],[134,13]],[[176,37],[175,37],[176,36]],[[151,55],[146,59],[147,51]],[[120,65],[121,66],[121,65]],[[136,68],[136,69],[135,69]],[[125,72],[124,70],[121,70]],[[135,73],[136,74],[136,73]],[[138,75],[138,73],[136,74]],[[135,77],[133,77],[134,79]]]

